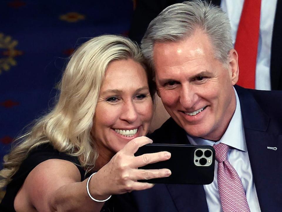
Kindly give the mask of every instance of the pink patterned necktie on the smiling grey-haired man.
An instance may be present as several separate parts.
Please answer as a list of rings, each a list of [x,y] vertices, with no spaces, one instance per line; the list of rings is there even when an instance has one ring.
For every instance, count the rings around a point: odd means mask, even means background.
[[[219,143],[213,148],[218,162],[217,184],[222,210],[224,212],[249,212],[250,208],[241,179],[227,160],[229,146]]]

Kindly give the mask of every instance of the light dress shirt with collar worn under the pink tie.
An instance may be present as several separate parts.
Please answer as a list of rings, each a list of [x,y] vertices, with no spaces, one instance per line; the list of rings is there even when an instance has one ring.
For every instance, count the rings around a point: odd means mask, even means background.
[[[243,127],[243,120],[241,115],[241,107],[239,97],[236,95],[236,109],[231,121],[218,142],[213,142],[203,138],[195,138],[187,135],[189,141],[193,145],[214,145],[217,143],[224,143],[230,146],[227,158],[231,165],[238,173],[243,187],[246,192],[246,198],[252,212],[260,212],[258,197],[256,194],[256,187],[253,180],[251,164],[246,147],[245,133]],[[209,185],[204,185],[206,193],[207,204],[210,212],[222,211],[219,192],[217,187],[217,161],[215,161],[214,181]]]

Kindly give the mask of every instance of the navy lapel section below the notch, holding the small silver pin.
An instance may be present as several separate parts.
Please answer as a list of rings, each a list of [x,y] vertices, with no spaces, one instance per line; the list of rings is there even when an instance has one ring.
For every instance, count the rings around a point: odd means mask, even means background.
[[[282,196],[282,137],[245,129],[245,138],[261,211],[276,211],[281,208]]]

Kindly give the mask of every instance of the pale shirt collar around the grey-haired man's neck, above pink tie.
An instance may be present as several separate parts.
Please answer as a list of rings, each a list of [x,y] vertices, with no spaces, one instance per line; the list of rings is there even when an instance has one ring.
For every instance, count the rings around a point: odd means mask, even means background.
[[[239,101],[239,97],[235,89],[234,89],[234,92],[236,96],[235,112],[229,122],[229,125],[226,131],[224,132],[223,136],[221,137],[221,139],[217,142],[213,142],[211,140],[207,140],[203,138],[192,137],[187,134],[187,137],[191,144],[212,146],[217,143],[224,143],[235,149],[238,149],[244,152],[247,151],[240,101]]]

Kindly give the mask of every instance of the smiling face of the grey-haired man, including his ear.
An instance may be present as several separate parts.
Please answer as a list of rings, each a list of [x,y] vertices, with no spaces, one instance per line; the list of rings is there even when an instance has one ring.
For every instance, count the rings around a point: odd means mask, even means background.
[[[196,30],[179,42],[156,43],[153,52],[157,93],[167,112],[189,135],[219,140],[236,107],[236,51],[224,68],[207,35]]]

